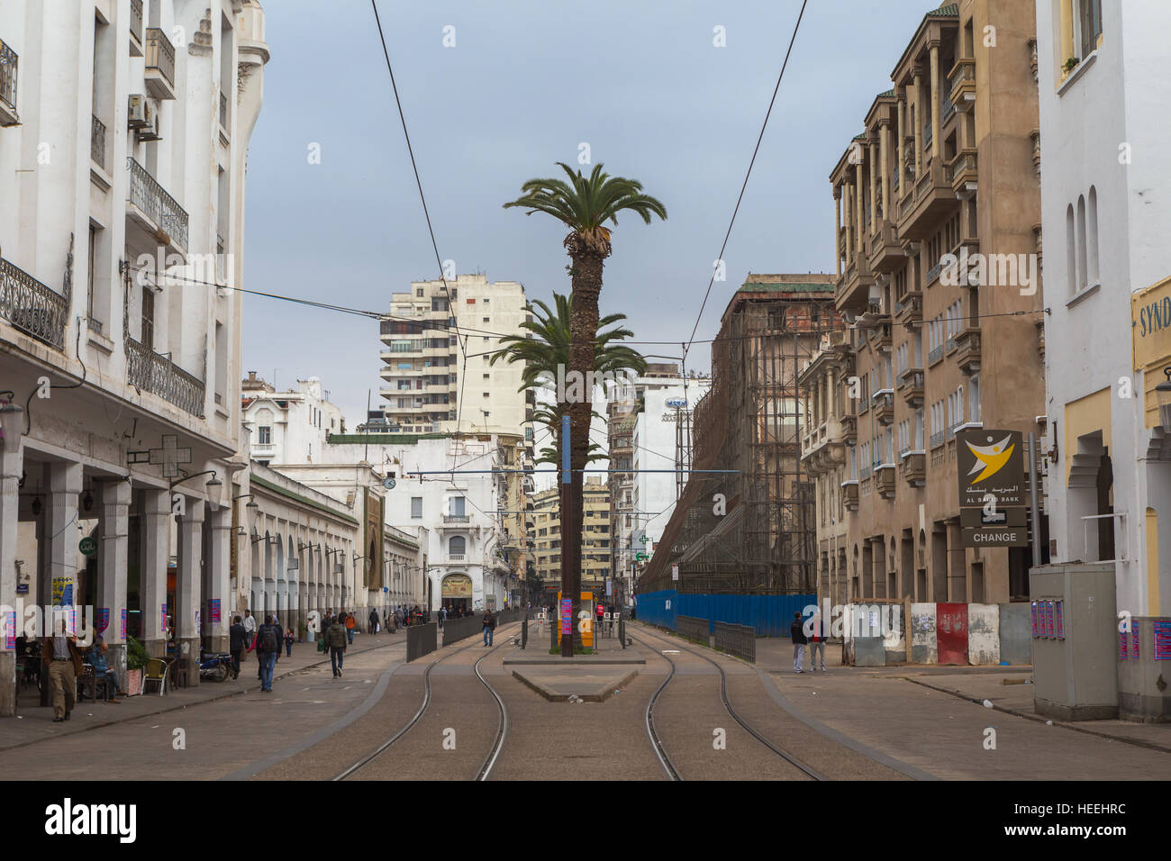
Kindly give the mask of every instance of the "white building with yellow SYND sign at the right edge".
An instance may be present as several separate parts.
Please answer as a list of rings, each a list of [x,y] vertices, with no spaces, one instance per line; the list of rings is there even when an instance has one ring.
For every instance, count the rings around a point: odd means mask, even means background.
[[[1102,636],[1068,637],[1086,686],[1060,652],[1047,665],[1063,643],[1035,641],[1038,710],[1167,720],[1155,626],[1171,620],[1171,204],[1155,153],[1171,136],[1171,6],[1036,0],[1036,25],[1041,223],[1064,247],[1046,261],[1052,565],[1033,573],[1067,608],[1088,603],[1073,582],[1090,585],[1103,614]]]

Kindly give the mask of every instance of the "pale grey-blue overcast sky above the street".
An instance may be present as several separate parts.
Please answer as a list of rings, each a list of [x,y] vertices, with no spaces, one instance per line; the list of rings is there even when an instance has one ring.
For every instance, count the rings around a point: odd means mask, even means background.
[[[925,12],[923,0],[810,0],[697,339],[748,272],[831,272],[829,172]],[[621,218],[602,313],[644,353],[696,323],[800,0],[381,0],[439,253],[459,273],[569,289],[564,230],[504,210],[578,144],[639,179],[665,223]],[[438,276],[369,0],[266,0],[265,98],[247,177],[245,283],[388,310]],[[456,47],[444,47],[454,27]],[[713,46],[713,28],[726,47]],[[311,144],[321,163],[309,164]],[[588,171],[588,166],[583,168]],[[347,426],[379,402],[376,321],[245,298],[245,370],[319,376]],[[706,344],[689,367],[708,370]]]

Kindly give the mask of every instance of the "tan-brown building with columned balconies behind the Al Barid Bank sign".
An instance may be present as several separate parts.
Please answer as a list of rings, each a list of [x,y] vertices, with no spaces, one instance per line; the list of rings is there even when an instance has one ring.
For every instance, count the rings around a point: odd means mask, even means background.
[[[956,433],[1046,430],[1034,32],[1015,0],[927,12],[830,175],[851,600],[1028,595],[1029,548],[965,546]]]

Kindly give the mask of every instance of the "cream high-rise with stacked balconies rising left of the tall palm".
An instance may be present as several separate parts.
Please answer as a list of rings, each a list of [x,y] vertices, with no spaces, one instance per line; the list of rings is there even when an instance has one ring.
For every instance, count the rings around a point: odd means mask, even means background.
[[[525,428],[536,395],[520,391],[523,365],[491,364],[501,335],[526,334],[526,301],[515,281],[478,274],[446,285],[413,281],[410,292],[395,293],[382,319],[379,389],[392,431],[511,433],[532,442]]]

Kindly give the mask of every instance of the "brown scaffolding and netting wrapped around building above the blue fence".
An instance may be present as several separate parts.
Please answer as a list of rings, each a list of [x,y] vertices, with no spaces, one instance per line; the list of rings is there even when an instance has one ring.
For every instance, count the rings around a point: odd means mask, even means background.
[[[828,275],[749,275],[712,344],[712,387],[689,422],[696,470],[638,592],[816,589],[814,485],[801,464],[801,367],[841,328]],[[672,579],[678,566],[678,580]]]

